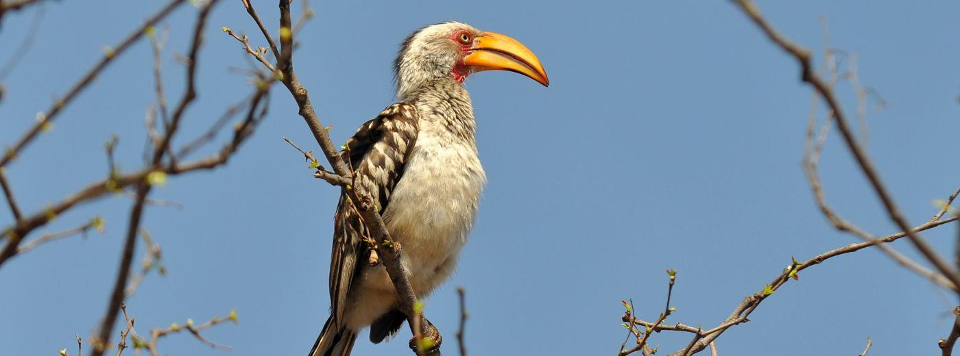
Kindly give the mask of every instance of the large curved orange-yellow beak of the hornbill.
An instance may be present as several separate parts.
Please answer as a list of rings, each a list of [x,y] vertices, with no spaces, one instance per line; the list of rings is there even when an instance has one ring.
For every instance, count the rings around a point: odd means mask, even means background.
[[[492,32],[477,36],[469,54],[464,57],[464,64],[469,65],[474,72],[509,70],[527,76],[543,86],[550,86],[540,59],[522,43],[509,36]]]

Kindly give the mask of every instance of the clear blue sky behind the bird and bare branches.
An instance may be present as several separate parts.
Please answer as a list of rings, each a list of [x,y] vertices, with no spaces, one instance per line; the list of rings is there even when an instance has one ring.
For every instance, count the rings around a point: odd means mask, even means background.
[[[490,180],[458,272],[426,300],[447,337],[458,320],[456,286],[467,288],[467,343],[473,355],[612,354],[623,341],[620,299],[634,298],[655,319],[665,269],[679,271],[678,311],[670,321],[712,327],[749,294],[798,259],[853,242],[816,210],[801,170],[809,89],[793,59],[773,47],[726,1],[556,2],[420,1],[340,5],[314,2],[317,17],[295,57],[324,124],[343,142],[393,103],[390,63],[396,46],[424,24],[457,20],[525,43],[552,85],[513,73],[468,80],[478,146]],[[0,143],[10,144],[102,55],[163,2],[49,2],[43,25],[0,103]],[[276,27],[276,2],[254,1]],[[869,151],[909,220],[919,224],[960,180],[951,164],[960,130],[960,5],[762,1],[785,35],[831,45],[859,58],[861,80],[888,102],[871,112]],[[298,11],[300,6],[295,6]],[[12,49],[35,10],[4,18],[0,43]],[[177,98],[183,53],[196,9],[168,20],[164,54],[168,98]],[[229,67],[248,67],[220,26],[255,35],[238,1],[216,8],[205,30],[199,100],[184,134],[197,134],[250,91]],[[103,143],[120,136],[124,169],[140,165],[143,114],[154,101],[147,42],[110,66],[8,167],[27,211],[57,202],[107,172]],[[169,354],[303,354],[327,317],[326,275],[337,191],[310,178],[301,157],[280,140],[312,138],[290,96],[276,86],[267,121],[228,166],[171,179],[144,225],[163,247],[165,277],[150,275],[127,305],[145,333],[187,318],[206,320],[236,308],[237,326],[206,337],[234,347],[209,349],[188,335],[161,341]],[[850,87],[839,90],[852,113]],[[175,144],[186,142],[180,136]],[[821,163],[828,199],[855,224],[894,231],[836,136]],[[207,153],[214,148],[207,148]],[[72,210],[44,231],[100,214],[107,233],[42,246],[0,271],[3,354],[72,352],[74,334],[90,334],[106,306],[131,200]],[[12,219],[0,214],[0,225]],[[928,231],[952,250],[954,225]],[[904,242],[894,245],[909,256]],[[137,252],[136,260],[142,251]],[[829,260],[766,300],[751,322],[718,341],[722,355],[930,354],[948,334],[955,300],[874,250]],[[404,331],[356,354],[409,354]],[[660,333],[652,344],[674,350],[686,335]]]

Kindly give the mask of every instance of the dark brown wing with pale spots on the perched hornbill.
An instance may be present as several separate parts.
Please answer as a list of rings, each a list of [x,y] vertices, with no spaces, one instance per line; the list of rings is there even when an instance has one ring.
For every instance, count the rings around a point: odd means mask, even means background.
[[[372,195],[382,214],[390,202],[396,182],[413,152],[419,131],[417,107],[396,103],[385,108],[353,134],[341,157],[356,177],[355,184]],[[370,232],[355,207],[342,193],[334,217],[333,252],[330,257],[330,302],[334,320],[343,321],[344,307],[357,261],[365,255],[363,237]]]

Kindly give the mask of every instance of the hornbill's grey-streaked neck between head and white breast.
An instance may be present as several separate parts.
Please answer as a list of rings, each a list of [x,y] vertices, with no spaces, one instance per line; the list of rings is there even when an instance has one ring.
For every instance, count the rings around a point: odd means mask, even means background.
[[[425,83],[399,98],[417,106],[421,131],[474,144],[476,121],[470,95],[463,84],[440,79]]]

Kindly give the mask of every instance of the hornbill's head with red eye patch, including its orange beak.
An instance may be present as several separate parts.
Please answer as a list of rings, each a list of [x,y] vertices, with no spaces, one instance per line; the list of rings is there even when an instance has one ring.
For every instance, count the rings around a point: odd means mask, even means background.
[[[522,43],[458,22],[430,25],[408,36],[394,69],[400,98],[438,79],[463,83],[468,75],[485,70],[509,70],[550,84],[540,59]]]

